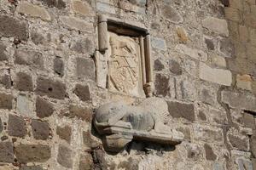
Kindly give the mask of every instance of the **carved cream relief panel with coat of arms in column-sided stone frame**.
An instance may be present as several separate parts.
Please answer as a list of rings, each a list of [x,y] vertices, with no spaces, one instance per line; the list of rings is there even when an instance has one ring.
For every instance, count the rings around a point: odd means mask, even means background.
[[[99,17],[97,85],[130,96],[152,96],[150,37],[143,27]]]

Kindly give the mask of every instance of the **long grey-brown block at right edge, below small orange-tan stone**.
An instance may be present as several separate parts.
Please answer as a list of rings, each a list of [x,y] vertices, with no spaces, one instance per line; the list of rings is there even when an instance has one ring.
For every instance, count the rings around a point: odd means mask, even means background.
[[[231,108],[256,111],[256,98],[253,95],[222,91],[221,99],[224,103],[230,105]]]

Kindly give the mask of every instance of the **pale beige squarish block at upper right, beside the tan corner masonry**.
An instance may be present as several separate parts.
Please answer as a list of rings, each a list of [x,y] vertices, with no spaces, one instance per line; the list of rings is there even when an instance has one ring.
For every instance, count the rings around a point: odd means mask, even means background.
[[[207,28],[209,31],[213,31],[217,34],[223,36],[229,36],[229,29],[226,20],[207,17],[206,19],[202,20],[202,26]]]

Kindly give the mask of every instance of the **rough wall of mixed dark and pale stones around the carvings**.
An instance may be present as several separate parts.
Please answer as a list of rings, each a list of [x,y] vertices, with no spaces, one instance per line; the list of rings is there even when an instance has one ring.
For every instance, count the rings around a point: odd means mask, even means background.
[[[182,144],[106,153],[91,126],[97,16],[151,34],[155,96]],[[0,0],[0,169],[256,169],[255,0]]]

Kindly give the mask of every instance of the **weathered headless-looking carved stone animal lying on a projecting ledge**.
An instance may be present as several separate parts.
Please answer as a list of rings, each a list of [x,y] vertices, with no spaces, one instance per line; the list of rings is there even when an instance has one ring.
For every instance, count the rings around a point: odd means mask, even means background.
[[[183,133],[166,126],[169,112],[164,99],[148,98],[140,105],[122,102],[102,105],[94,120],[98,133],[104,135],[108,151],[118,152],[132,139],[159,144],[180,144]]]

